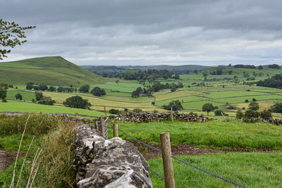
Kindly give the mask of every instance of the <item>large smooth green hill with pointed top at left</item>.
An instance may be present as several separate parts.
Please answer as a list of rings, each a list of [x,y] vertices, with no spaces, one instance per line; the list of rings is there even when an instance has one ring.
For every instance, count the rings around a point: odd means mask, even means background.
[[[60,56],[51,56],[0,63],[0,82],[81,85],[102,84],[106,80]]]

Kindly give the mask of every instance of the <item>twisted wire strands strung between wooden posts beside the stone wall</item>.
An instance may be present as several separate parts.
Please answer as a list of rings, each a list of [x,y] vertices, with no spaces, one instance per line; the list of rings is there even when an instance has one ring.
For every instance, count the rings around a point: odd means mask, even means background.
[[[102,125],[102,126],[104,126],[104,125]],[[107,126],[104,126],[104,127],[106,127],[106,128],[108,129],[108,132],[109,132],[109,129],[112,129],[112,127],[109,127],[109,123],[108,123]],[[136,139],[135,137],[131,136],[130,134],[124,132],[123,130],[118,129],[118,131],[122,132],[123,134],[125,134],[125,135],[128,136],[128,137],[130,137],[131,139],[134,139],[135,141],[139,142],[140,144],[142,144],[142,145],[144,145],[144,146],[147,146],[149,149],[152,149],[152,150],[154,150],[154,151],[157,151],[157,152],[161,153],[161,150],[160,150],[160,149],[154,148],[153,146],[150,146],[149,144],[146,144],[145,142],[142,142],[142,141],[140,141],[139,139]],[[108,134],[108,135],[109,135],[109,134]],[[229,184],[234,184],[234,185],[236,185],[236,186],[238,186],[238,187],[247,188],[247,187],[245,187],[243,184],[239,184],[238,182],[235,182],[235,181],[233,181],[233,180],[228,180],[228,179],[222,177],[221,175],[217,175],[217,174],[215,174],[215,173],[210,172],[209,170],[204,170],[203,168],[200,168],[200,167],[198,167],[197,165],[193,165],[192,163],[188,163],[187,161],[184,161],[184,160],[181,159],[181,158],[177,158],[176,156],[173,156],[173,155],[172,155],[171,157],[174,158],[174,159],[176,159],[176,161],[178,161],[178,162],[180,162],[180,163],[184,163],[184,164],[186,164],[186,165],[190,165],[191,167],[193,167],[193,168],[195,168],[195,169],[197,169],[197,170],[200,170],[200,171],[202,171],[203,173],[207,173],[208,175],[212,175],[213,177],[216,177],[216,178],[218,178],[219,180],[223,180],[224,182],[227,182],[227,183],[229,183]],[[160,177],[161,179],[164,180],[164,176],[160,175],[159,173],[157,173],[156,171],[152,170],[151,168],[150,168],[150,171],[152,171],[152,173],[154,173],[155,175],[157,175],[158,177]],[[177,186],[176,186],[176,187],[177,187]]]

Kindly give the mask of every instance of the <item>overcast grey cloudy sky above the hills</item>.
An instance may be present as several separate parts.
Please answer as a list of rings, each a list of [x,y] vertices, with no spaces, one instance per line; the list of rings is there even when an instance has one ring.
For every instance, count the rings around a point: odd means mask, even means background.
[[[37,26],[3,61],[282,65],[281,7],[281,0],[0,0],[0,18]]]

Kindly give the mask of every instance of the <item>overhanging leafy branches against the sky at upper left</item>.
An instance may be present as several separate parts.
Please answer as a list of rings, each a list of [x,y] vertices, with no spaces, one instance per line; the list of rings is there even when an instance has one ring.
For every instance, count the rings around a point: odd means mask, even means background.
[[[6,54],[11,52],[11,48],[27,42],[25,30],[32,28],[35,28],[35,26],[21,27],[17,23],[0,19],[0,46],[8,48],[0,49],[0,60],[7,57]]]

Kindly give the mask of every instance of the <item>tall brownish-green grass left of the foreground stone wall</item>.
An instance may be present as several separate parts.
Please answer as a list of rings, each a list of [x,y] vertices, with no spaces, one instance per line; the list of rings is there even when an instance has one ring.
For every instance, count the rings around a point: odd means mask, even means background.
[[[27,117],[28,114],[16,118],[2,115],[0,134],[19,134],[25,127]],[[16,187],[72,187],[75,124],[48,115],[31,115],[25,133],[35,135],[30,153],[26,158],[18,158],[16,163],[0,173],[0,187],[10,185],[14,169]]]

